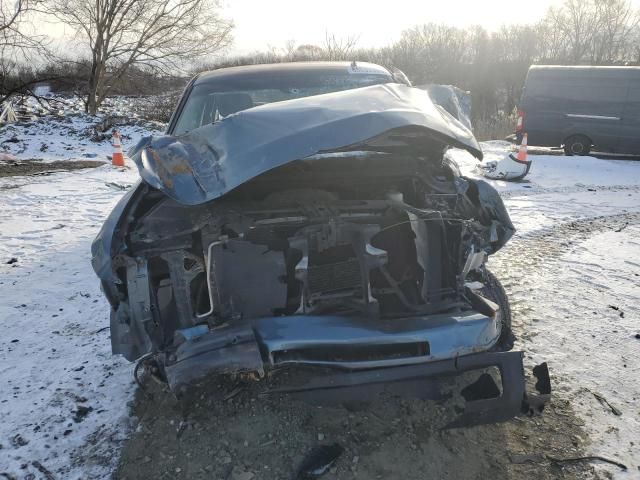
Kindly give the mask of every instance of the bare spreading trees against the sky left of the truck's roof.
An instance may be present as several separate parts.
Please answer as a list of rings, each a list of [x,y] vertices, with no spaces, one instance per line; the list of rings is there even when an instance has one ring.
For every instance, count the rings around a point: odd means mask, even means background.
[[[30,14],[69,29],[65,48],[29,32]],[[95,114],[136,79],[148,92],[155,79],[174,80],[194,59],[221,51],[232,29],[219,0],[0,0],[0,100],[33,94],[42,81],[72,84]]]

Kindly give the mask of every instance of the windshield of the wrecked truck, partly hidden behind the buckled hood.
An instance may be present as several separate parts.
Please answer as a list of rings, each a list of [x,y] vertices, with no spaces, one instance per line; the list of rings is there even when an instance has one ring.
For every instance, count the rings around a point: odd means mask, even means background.
[[[196,84],[175,123],[173,135],[218,121],[248,108],[391,82],[381,74],[279,74],[229,78]]]

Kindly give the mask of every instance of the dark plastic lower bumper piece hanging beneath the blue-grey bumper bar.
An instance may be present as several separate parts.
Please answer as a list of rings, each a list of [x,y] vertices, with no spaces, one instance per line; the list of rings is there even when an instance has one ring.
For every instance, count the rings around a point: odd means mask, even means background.
[[[523,352],[485,352],[439,362],[391,367],[367,371],[337,372],[310,377],[304,384],[269,390],[266,393],[290,394],[304,400],[323,402],[362,401],[382,391],[423,399],[453,399],[449,380],[477,372],[477,380],[461,385],[464,399],[458,416],[447,428],[504,422],[518,415],[542,413],[551,399],[551,382],[546,363],[533,368],[536,393],[526,389]],[[500,387],[483,371],[495,367],[500,372]]]

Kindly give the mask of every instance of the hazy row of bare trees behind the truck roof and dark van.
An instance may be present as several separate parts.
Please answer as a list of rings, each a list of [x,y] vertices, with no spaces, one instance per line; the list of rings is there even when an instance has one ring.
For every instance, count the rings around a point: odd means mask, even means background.
[[[447,84],[470,91],[474,121],[509,115],[533,64],[640,65],[640,15],[628,0],[566,0],[531,25],[488,31],[427,23],[382,48],[355,37],[327,35],[320,45],[230,58],[207,68],[303,60],[361,60],[402,70],[414,85]]]

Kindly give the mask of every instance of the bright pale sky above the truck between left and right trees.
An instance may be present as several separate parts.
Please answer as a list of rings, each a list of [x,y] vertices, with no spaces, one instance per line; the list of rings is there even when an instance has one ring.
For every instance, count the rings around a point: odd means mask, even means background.
[[[559,0],[224,0],[225,16],[235,22],[230,54],[296,45],[322,44],[325,32],[358,37],[359,47],[379,47],[413,25],[456,26],[533,23]],[[635,2],[634,2],[635,3]]]

